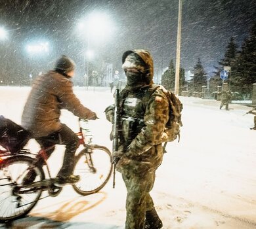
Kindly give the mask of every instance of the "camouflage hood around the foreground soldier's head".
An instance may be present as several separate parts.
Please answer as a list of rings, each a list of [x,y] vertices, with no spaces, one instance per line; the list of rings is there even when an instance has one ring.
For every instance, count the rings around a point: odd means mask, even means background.
[[[148,77],[150,80],[150,84],[153,84],[153,76],[154,76],[154,65],[153,65],[153,58],[147,50],[144,49],[135,49],[135,50],[128,50],[123,53],[122,62],[125,62],[125,58],[131,53],[136,53],[140,58],[146,63],[148,66]]]

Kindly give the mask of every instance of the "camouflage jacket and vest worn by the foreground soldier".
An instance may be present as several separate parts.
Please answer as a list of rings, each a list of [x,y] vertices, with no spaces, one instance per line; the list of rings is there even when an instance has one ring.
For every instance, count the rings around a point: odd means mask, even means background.
[[[163,150],[160,139],[169,118],[169,103],[160,88],[145,103],[146,90],[148,86],[137,92],[127,92],[125,89],[121,92],[119,139],[124,156],[117,164],[118,171],[125,168],[140,173],[161,164]],[[108,120],[113,120],[112,115],[114,113],[110,110],[106,113]]]

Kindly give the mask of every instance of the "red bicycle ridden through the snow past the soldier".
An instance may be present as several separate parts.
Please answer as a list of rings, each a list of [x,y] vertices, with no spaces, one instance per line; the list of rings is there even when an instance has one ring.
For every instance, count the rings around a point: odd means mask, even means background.
[[[75,192],[82,196],[94,194],[102,189],[112,173],[112,154],[108,148],[92,144],[92,137],[83,128],[79,119],[79,143],[83,149],[75,156],[74,175],[80,175],[80,180],[73,186]],[[89,137],[88,141],[86,137]],[[49,196],[58,196],[62,187],[54,185],[56,178],[51,177],[50,167],[44,157],[47,149],[41,149],[37,154],[22,149],[12,154],[0,149],[0,222],[19,219],[27,215],[36,203]],[[45,171],[36,162],[42,157],[49,178],[45,179]],[[35,171],[35,180],[29,185],[22,181],[30,170]],[[41,198],[43,191],[48,196]]]

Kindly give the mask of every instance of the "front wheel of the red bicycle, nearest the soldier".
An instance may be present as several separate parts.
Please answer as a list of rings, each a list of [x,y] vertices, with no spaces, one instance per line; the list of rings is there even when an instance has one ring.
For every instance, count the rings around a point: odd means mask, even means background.
[[[110,179],[112,167],[108,148],[90,145],[81,150],[75,160],[74,175],[80,176],[80,181],[73,185],[75,192],[82,196],[98,192]]]

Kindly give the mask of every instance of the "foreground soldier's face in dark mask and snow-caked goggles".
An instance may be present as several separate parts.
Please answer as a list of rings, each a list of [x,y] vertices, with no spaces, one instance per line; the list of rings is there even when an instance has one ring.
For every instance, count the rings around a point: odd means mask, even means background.
[[[122,65],[127,77],[127,86],[137,87],[146,84],[146,63],[136,53],[131,53],[125,58]]]

